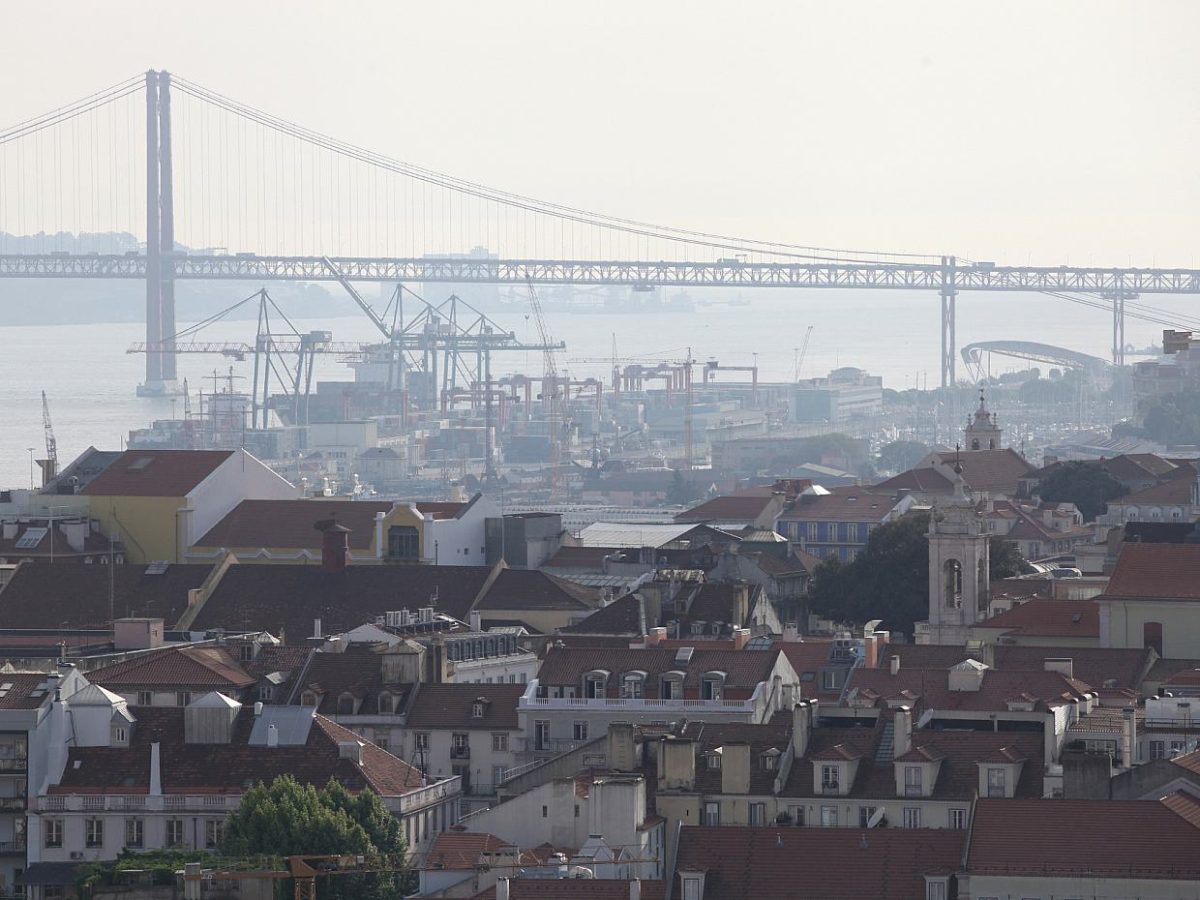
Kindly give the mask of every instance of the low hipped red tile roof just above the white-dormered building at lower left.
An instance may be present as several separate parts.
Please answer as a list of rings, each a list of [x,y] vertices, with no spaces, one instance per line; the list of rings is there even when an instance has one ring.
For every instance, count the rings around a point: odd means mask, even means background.
[[[88,680],[114,691],[144,686],[228,694],[230,689],[236,692],[254,684],[254,678],[223,647],[169,647],[139,653],[92,670]]]

